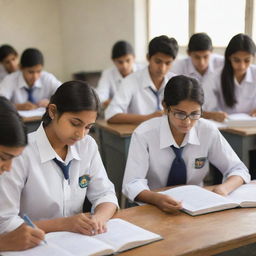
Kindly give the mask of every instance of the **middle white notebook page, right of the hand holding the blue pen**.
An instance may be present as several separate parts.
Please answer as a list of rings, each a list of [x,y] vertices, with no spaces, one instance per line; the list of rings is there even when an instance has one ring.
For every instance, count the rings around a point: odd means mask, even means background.
[[[47,234],[47,241],[63,248],[65,251],[76,256],[103,255],[113,252],[110,245],[102,243],[93,237],[72,233],[72,232],[53,232]],[[52,255],[51,255],[52,256]]]

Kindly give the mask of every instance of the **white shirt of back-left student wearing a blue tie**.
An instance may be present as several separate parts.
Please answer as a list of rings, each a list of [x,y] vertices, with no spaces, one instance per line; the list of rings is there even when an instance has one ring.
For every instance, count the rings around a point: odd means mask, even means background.
[[[57,78],[42,71],[40,78],[33,85],[33,98],[35,102],[42,99],[50,99],[56,89],[61,85]],[[28,101],[28,94],[25,88],[29,88],[24,80],[21,71],[16,71],[7,75],[0,84],[0,95],[5,96],[14,104],[21,104]]]

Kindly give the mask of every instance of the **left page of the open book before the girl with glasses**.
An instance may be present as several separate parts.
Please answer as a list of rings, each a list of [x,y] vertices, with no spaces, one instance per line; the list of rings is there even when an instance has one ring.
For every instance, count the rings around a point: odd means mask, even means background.
[[[192,212],[219,205],[234,204],[230,199],[194,185],[180,186],[159,193],[182,201],[183,208]]]

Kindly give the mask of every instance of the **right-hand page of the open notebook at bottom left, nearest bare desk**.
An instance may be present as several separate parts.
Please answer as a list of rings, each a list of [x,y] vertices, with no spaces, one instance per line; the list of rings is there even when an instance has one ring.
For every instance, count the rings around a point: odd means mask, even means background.
[[[107,233],[96,235],[95,238],[111,244],[116,251],[127,250],[161,239],[160,235],[122,219],[109,220],[107,228]]]

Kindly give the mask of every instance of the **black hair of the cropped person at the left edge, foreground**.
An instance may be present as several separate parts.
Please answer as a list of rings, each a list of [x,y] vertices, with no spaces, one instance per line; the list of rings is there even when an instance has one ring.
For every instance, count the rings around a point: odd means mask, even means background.
[[[0,145],[24,147],[28,143],[26,127],[14,105],[0,96]]]

